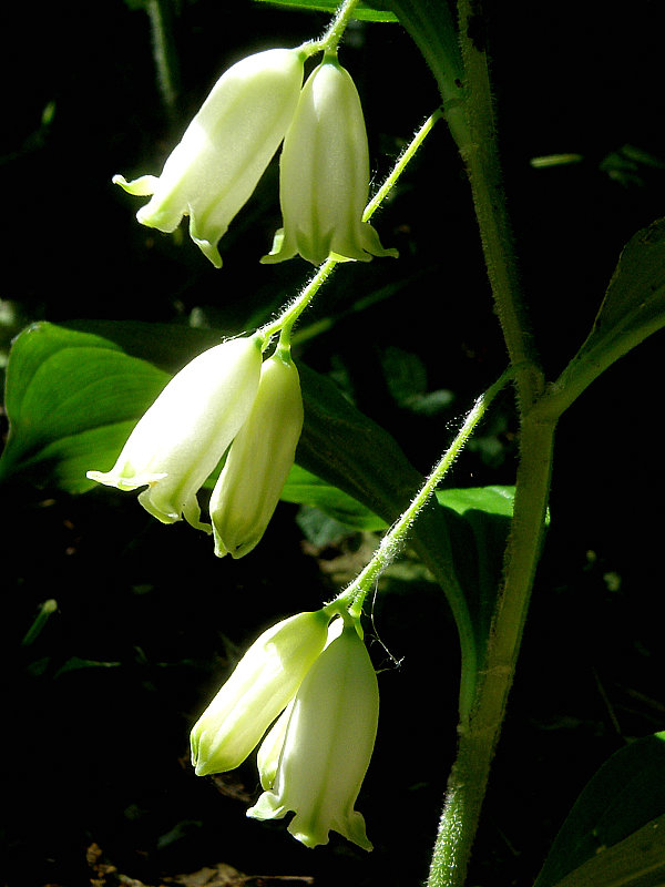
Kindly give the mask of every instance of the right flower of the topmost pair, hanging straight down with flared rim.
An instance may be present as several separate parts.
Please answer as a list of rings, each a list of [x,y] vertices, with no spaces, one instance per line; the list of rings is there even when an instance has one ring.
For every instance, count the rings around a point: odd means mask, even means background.
[[[335,57],[309,75],[284,141],[279,200],[284,227],[262,262],[300,254],[369,262],[395,256],[362,222],[369,192],[369,150],[358,91]]]

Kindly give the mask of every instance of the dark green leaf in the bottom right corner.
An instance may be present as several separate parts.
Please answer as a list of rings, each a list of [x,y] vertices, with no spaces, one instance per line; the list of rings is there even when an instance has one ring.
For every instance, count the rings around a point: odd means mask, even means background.
[[[665,878],[665,732],[632,742],[592,777],[534,887],[655,887]]]

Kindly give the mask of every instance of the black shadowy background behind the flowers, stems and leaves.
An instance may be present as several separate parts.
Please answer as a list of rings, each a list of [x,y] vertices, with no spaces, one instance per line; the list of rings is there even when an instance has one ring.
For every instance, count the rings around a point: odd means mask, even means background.
[[[4,351],[35,319],[234,333],[269,316],[309,273],[300,259],[257,262],[279,223],[275,164],[222,241],[219,272],[184,230],[166,236],[136,224],[140,201],[111,177],[157,173],[225,68],[317,35],[327,17],[182,0],[170,114],[149,18],[136,7],[3,6]],[[587,334],[622,246],[664,214],[665,14],[646,0],[612,9],[488,2],[485,18],[524,292],[555,378]],[[380,181],[436,108],[436,89],[398,26],[354,26],[340,60],[362,96]],[[530,164],[559,152],[581,161]],[[376,224],[399,261],[339,269],[304,322],[337,323],[298,357],[331,374],[426,471],[505,365],[468,186],[443,124]],[[370,296],[372,305],[351,310]],[[665,726],[662,348],[662,334],[641,345],[561,421],[552,523],[470,885],[531,884],[600,764]],[[423,415],[405,391],[447,394]],[[507,394],[450,483],[511,483],[514,451]],[[73,498],[27,480],[1,496],[2,884],[152,886],[219,864],[248,884],[422,883],[454,751],[457,640],[436,587],[396,580],[377,600],[374,629],[403,659],[395,667],[371,645],[381,724],[358,807],[375,852],[336,835],[313,852],[284,823],[245,818],[257,788],[252,762],[216,782],[194,777],[188,731],[247,643],[331,597],[366,540],[316,547],[297,508],[284,504],[253,554],[216,561],[208,539],[157,524],[132,496]],[[58,611],[21,646],[52,598]]]

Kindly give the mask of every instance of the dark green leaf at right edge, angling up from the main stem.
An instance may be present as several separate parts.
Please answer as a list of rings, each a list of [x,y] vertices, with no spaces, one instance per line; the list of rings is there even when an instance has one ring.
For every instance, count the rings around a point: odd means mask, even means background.
[[[601,373],[665,326],[665,218],[637,232],[624,247],[593,328],[543,399],[557,414]]]

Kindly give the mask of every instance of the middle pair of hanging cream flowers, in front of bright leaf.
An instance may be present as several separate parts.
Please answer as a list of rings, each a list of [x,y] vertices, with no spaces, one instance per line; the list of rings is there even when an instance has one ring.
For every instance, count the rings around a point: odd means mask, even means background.
[[[88,477],[120,490],[146,489],[141,504],[163,523],[185,520],[214,533],[215,553],[234,558],[258,543],[277,507],[303,429],[298,370],[260,336],[198,355],[164,388],[110,471]],[[228,452],[227,452],[228,451]],[[197,493],[227,452],[202,522]]]

